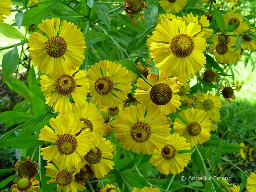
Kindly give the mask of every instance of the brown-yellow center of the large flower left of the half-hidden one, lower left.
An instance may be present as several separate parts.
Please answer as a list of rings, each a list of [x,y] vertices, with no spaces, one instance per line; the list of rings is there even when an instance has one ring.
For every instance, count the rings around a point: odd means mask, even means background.
[[[60,154],[72,154],[77,148],[76,137],[72,134],[62,134],[56,140],[56,147]]]

